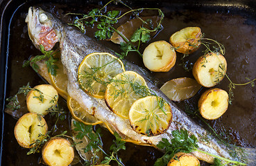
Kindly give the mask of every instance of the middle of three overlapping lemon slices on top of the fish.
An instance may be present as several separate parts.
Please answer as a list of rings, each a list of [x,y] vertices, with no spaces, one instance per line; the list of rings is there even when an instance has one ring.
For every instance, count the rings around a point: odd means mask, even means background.
[[[148,86],[144,78],[134,71],[115,76],[105,91],[105,102],[118,116],[128,119],[130,107],[139,98],[147,96]]]

